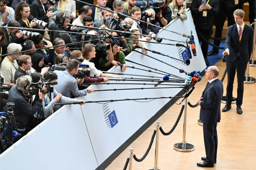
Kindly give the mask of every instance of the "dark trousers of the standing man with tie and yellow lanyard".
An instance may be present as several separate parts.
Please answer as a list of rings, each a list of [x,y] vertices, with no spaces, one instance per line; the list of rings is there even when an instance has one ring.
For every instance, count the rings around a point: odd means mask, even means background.
[[[226,102],[228,105],[231,105],[232,98],[233,98],[233,84],[234,84],[234,79],[237,72],[236,106],[242,106],[243,94],[244,94],[244,76],[245,76],[247,63],[242,63],[240,58],[237,57],[234,62],[227,61],[226,64],[227,64],[227,73],[228,73]]]

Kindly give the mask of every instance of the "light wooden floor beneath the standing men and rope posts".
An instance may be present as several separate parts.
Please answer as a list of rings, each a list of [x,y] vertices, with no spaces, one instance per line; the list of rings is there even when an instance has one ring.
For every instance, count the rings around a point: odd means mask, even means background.
[[[226,64],[222,59],[215,64],[220,71],[219,79],[222,78]],[[256,67],[249,68],[250,76],[256,78]],[[207,80],[196,84],[196,88],[189,96],[189,101],[195,104],[201,96]],[[227,76],[223,81],[224,95],[226,95]],[[233,96],[236,97],[237,81],[235,79]],[[202,162],[201,157],[205,156],[203,129],[197,124],[200,107],[187,108],[187,127],[186,141],[194,145],[195,150],[191,152],[179,152],[173,149],[175,143],[181,142],[183,134],[183,116],[172,134],[164,136],[160,132],[159,136],[159,156],[158,167],[161,170],[198,170],[198,169],[216,169],[216,170],[256,170],[256,84],[244,85],[244,100],[242,105],[243,114],[236,113],[236,106],[232,104],[232,109],[221,113],[221,122],[217,126],[218,131],[218,153],[217,164],[214,168],[202,168],[196,165]],[[221,109],[225,104],[221,104]],[[173,105],[160,118],[160,124],[164,131],[169,131],[181,109],[181,105]],[[138,158],[141,158],[151,139],[155,124],[143,132],[129,147],[127,147],[106,169],[121,170],[124,167],[128,157],[130,147],[134,147],[134,152]],[[132,169],[147,170],[154,167],[155,141],[148,156],[142,162],[132,160]],[[128,169],[128,168],[127,168]]]

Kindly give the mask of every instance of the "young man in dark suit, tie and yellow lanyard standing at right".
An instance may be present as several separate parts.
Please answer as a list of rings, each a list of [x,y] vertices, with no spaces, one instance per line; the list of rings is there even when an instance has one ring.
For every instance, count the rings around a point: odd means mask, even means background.
[[[237,98],[236,110],[238,114],[242,114],[241,105],[243,103],[244,93],[244,75],[246,66],[250,60],[253,47],[253,29],[244,24],[245,12],[241,9],[234,11],[234,19],[236,24],[228,27],[227,37],[225,42],[225,51],[223,55],[227,55],[227,73],[228,84],[226,102],[227,105],[222,109],[222,112],[227,112],[231,109],[231,101],[233,97],[233,83],[237,72]]]

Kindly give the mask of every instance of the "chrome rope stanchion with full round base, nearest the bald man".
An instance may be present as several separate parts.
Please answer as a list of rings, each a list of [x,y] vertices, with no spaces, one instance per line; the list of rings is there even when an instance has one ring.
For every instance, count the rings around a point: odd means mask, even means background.
[[[187,143],[186,141],[186,123],[187,123],[187,100],[188,98],[186,98],[184,100],[184,124],[183,124],[183,139],[181,143],[175,143],[173,145],[173,148],[177,151],[181,151],[181,152],[190,152],[193,151],[195,149],[194,145]]]

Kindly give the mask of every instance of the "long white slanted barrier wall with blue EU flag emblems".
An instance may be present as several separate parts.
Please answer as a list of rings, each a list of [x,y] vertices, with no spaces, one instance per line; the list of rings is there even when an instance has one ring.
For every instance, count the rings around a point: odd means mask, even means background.
[[[192,30],[196,47],[199,47],[198,38],[192,21],[191,13],[187,13],[187,21],[180,19],[173,21],[166,29],[181,34],[190,35]],[[186,38],[168,32],[161,31],[159,37],[172,40],[185,41]],[[162,43],[176,43],[163,40]],[[147,43],[147,48],[181,59],[184,47],[176,47],[164,44]],[[137,49],[142,51],[141,49]],[[191,64],[184,65],[166,56],[149,52],[149,55],[158,58],[172,66],[139,54],[131,53],[126,58],[170,74],[186,78],[187,75],[179,73],[178,69],[187,72],[203,70],[206,65],[200,48],[197,48],[197,56],[192,56]],[[149,68],[127,62],[129,66],[135,66],[146,70]],[[178,68],[178,69],[177,69]],[[113,72],[120,72],[116,67]],[[154,70],[152,70],[154,71]],[[157,71],[159,72],[159,71]],[[164,75],[146,72],[138,69],[127,68],[127,74],[140,74],[163,77]],[[124,75],[122,77],[137,77]],[[150,83],[135,81],[110,81],[110,83]],[[155,84],[156,82],[154,82]],[[165,83],[170,84],[170,83]],[[174,83],[173,83],[174,84]],[[146,88],[153,85],[128,85],[128,84],[98,84],[92,85],[98,89],[120,88]],[[170,87],[159,85],[158,87]],[[172,89],[145,89],[145,90],[117,90],[101,91],[80,97],[84,101],[102,101],[135,98],[154,98],[181,96],[182,88]],[[176,99],[174,99],[176,101]],[[0,155],[1,168],[11,170],[23,169],[104,169],[116,158],[132,141],[134,141],[146,128],[157,120],[171,105],[170,99],[137,100],[87,103],[83,106],[72,105],[63,107],[57,113],[36,127],[29,134],[15,143],[7,151]],[[177,113],[178,114],[178,113]],[[125,160],[124,160],[125,162]],[[11,166],[10,166],[11,165]]]

